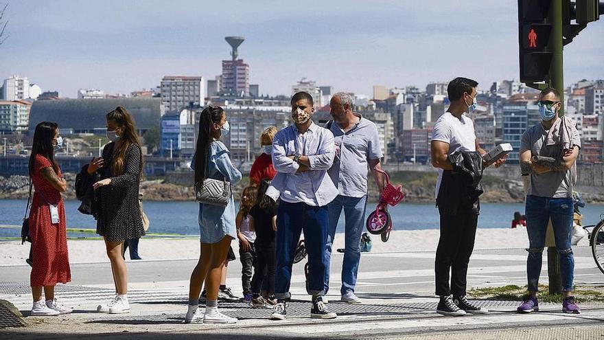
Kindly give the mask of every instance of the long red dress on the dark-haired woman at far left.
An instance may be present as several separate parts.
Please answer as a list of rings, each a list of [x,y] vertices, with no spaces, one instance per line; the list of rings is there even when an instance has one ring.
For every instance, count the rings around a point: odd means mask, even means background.
[[[34,200],[30,211],[30,237],[32,238],[32,286],[54,286],[71,281],[69,256],[67,255],[67,234],[65,230],[65,205],[58,190],[52,187],[40,173],[52,163],[42,155],[34,158],[32,183]],[[58,177],[62,177],[58,170]],[[49,204],[57,205],[59,223],[52,224]]]

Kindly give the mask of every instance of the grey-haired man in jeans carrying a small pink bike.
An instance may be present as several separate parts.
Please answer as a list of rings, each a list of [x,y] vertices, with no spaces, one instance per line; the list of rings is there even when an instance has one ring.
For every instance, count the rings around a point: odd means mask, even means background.
[[[334,120],[326,128],[334,134],[336,158],[329,169],[329,177],[338,187],[338,196],[329,203],[329,233],[325,247],[325,292],[329,290],[329,262],[332,257],[332,245],[340,214],[344,209],[345,249],[342,264],[341,301],[359,304],[354,294],[358,266],[361,257],[360,239],[365,225],[365,207],[367,206],[367,173],[369,169],[377,181],[377,189],[382,192],[384,178],[373,171],[381,169],[382,148],[377,135],[377,126],[358,113],[353,113],[353,98],[348,93],[334,94],[329,102]]]

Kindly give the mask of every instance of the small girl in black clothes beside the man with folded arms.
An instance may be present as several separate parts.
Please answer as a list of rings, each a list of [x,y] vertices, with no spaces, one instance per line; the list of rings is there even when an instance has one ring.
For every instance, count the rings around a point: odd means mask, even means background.
[[[256,232],[254,242],[256,262],[254,264],[254,277],[252,279],[253,308],[270,308],[264,297],[260,296],[262,281],[266,275],[268,299],[275,295],[275,231],[277,231],[277,204],[266,195],[270,185],[269,179],[263,179],[258,187],[256,204],[250,210],[250,228]]]

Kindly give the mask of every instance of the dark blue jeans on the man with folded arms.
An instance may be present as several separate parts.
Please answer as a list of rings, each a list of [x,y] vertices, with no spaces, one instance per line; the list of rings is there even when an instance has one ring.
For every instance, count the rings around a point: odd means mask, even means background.
[[[329,223],[327,205],[314,207],[305,203],[279,202],[277,209],[277,270],[275,271],[275,297],[289,299],[294,255],[304,231],[304,244],[308,254],[309,291],[312,296],[325,295],[325,242]]]

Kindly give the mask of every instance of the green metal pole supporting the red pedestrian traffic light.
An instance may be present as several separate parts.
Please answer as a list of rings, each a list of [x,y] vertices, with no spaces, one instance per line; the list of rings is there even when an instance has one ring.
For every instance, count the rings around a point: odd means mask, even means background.
[[[552,0],[550,4],[550,19],[552,32],[549,45],[553,53],[552,65],[550,67],[550,86],[560,93],[560,116],[564,115],[564,64],[562,59],[562,1]],[[549,293],[559,294],[562,291],[560,275],[560,259],[556,247],[548,247],[548,279]]]

